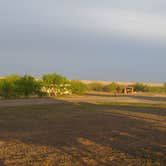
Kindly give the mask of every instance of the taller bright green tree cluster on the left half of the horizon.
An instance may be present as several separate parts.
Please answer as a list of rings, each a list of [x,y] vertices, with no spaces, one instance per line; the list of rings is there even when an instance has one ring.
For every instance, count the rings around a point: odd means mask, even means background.
[[[36,79],[31,75],[10,75],[0,79],[1,98],[24,98],[42,97],[48,93],[43,91],[43,87],[59,88],[68,85],[72,94],[82,94],[86,91],[86,85],[80,81],[71,81],[59,74],[46,74],[41,79]]]

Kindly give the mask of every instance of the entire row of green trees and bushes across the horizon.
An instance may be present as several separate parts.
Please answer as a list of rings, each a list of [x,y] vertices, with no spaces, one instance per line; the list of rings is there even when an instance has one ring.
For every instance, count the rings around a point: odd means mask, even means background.
[[[131,85],[135,92],[166,93],[166,83],[163,86],[149,86],[143,83]],[[98,82],[90,84],[81,81],[69,80],[57,73],[43,75],[36,79],[31,75],[9,75],[0,79],[0,98],[24,98],[48,96],[47,90],[56,91],[56,95],[63,94],[83,94],[86,91],[110,92],[114,93],[125,86],[117,83],[103,85]],[[44,90],[45,89],[45,90]],[[70,93],[62,93],[62,92]]]

